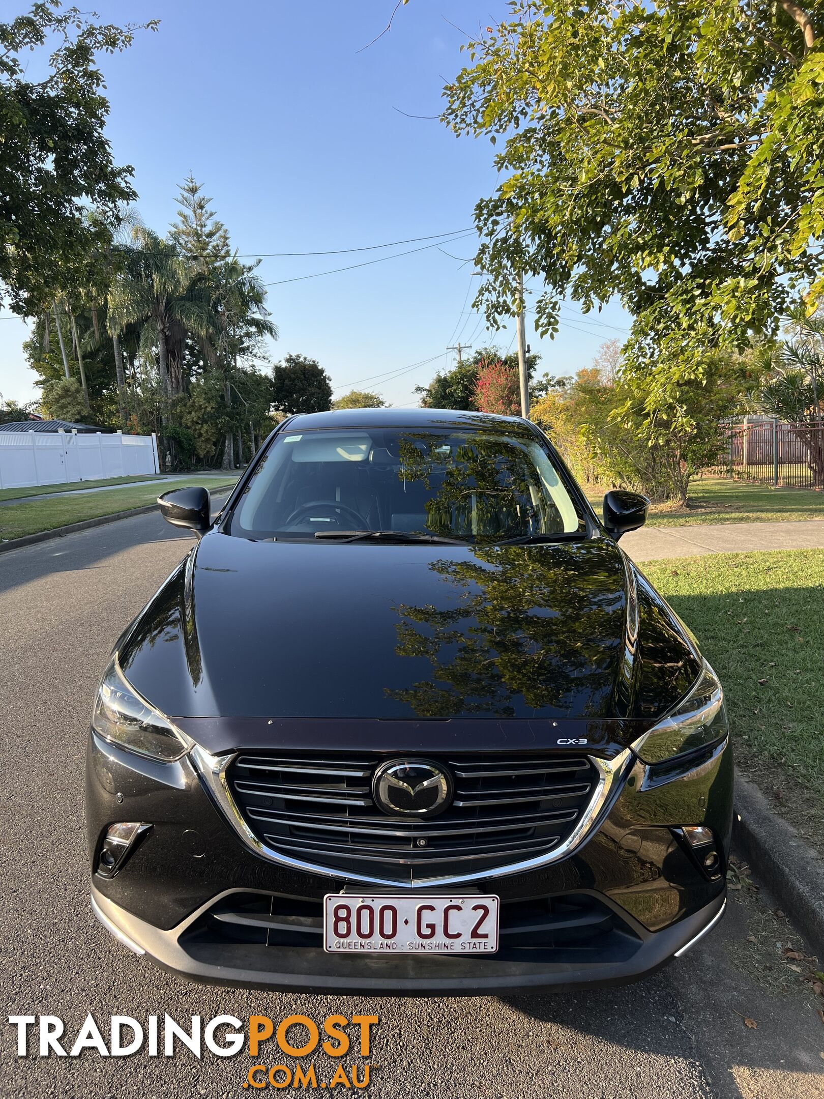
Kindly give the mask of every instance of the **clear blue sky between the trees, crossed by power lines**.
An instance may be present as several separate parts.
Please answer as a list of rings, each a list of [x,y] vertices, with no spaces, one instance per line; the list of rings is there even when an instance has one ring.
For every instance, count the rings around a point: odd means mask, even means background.
[[[476,201],[495,186],[492,147],[457,140],[437,121],[441,89],[461,65],[471,32],[502,15],[502,0],[412,0],[389,34],[358,53],[386,25],[394,0],[98,0],[112,22],[159,16],[125,54],[104,57],[108,135],[120,164],[134,166],[137,209],[164,232],[178,185],[192,171],[241,253],[349,248],[471,227]],[[14,10],[23,10],[15,0]],[[8,15],[8,12],[7,12]],[[456,26],[450,25],[456,24]],[[396,110],[397,108],[397,110]],[[421,242],[425,244],[427,242]],[[264,259],[274,282],[404,252],[408,244],[352,256]],[[444,246],[458,257],[474,238]],[[449,365],[447,344],[491,342],[467,298],[471,264],[427,248],[324,278],[272,286],[280,329],[270,356],[318,358],[339,396],[353,386],[392,404],[417,402],[415,385]],[[628,328],[617,304],[593,323],[564,310],[556,340],[538,340],[541,373],[570,374],[600,344]],[[0,315],[7,315],[2,313]],[[26,368],[21,321],[0,322],[0,392],[38,392]],[[493,341],[508,348],[513,329]],[[394,379],[374,377],[443,357]],[[363,380],[370,379],[370,380]]]

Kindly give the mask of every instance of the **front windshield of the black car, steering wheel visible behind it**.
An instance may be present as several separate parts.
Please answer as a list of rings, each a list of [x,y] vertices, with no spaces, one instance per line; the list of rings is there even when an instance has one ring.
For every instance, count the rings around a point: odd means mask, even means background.
[[[549,454],[526,431],[286,429],[230,529],[253,539],[391,531],[488,544],[569,535],[584,523]]]

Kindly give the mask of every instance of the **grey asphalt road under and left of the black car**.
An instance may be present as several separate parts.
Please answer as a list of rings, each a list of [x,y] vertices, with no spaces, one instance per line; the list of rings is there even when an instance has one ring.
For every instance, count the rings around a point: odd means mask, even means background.
[[[254,1094],[242,1090],[245,1053],[207,1053],[202,1062],[187,1051],[18,1058],[7,1023],[11,1014],[59,1015],[70,1043],[89,1011],[104,1032],[113,1013],[145,1021],[166,1011],[179,1022],[377,1014],[366,1094],[379,1097],[824,1096],[824,1023],[781,956],[788,943],[803,944],[775,914],[776,901],[746,886],[731,895],[720,929],[682,959],[642,984],[575,996],[411,1000],[210,988],[111,940],[88,901],[82,763],[91,697],[113,641],[190,544],[153,513],[0,556],[1,1094]],[[330,1061],[315,1064],[321,1073]]]

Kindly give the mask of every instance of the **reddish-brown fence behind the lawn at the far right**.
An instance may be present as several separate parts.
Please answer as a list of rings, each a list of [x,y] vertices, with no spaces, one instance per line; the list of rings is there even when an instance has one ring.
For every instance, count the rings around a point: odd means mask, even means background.
[[[746,417],[743,422],[724,426],[728,436],[724,457],[731,477],[775,486],[824,488],[824,424]]]

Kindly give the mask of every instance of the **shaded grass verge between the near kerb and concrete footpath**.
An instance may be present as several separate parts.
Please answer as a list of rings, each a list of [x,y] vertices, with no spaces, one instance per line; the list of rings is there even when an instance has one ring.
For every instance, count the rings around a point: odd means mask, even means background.
[[[646,562],[727,698],[736,763],[824,850],[824,550]]]

